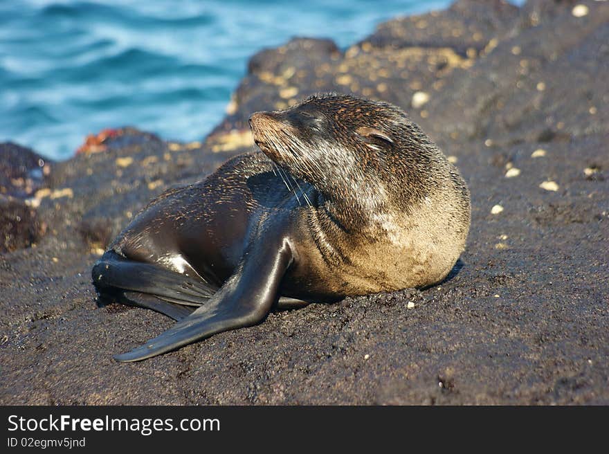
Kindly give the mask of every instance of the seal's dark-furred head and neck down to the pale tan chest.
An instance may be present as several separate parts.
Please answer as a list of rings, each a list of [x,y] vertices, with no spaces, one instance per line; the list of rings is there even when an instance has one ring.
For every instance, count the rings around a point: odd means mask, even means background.
[[[442,152],[404,111],[386,102],[325,94],[250,118],[255,143],[324,197],[365,213],[407,209],[436,185]],[[342,212],[342,211],[341,211]]]

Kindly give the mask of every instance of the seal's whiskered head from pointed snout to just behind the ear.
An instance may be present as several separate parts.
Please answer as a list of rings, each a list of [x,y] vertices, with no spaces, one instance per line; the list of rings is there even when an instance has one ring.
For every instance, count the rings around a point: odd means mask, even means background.
[[[357,171],[383,167],[406,121],[403,111],[384,102],[322,95],[284,111],[256,112],[250,125],[267,156],[315,183],[327,166],[349,165]]]

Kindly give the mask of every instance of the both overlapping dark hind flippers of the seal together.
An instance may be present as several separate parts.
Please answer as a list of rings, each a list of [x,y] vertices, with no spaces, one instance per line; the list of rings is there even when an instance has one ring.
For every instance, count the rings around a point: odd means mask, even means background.
[[[205,304],[217,287],[154,264],[134,262],[107,251],[93,266],[100,300],[107,296],[125,305],[145,307],[181,320]]]

